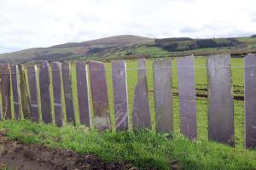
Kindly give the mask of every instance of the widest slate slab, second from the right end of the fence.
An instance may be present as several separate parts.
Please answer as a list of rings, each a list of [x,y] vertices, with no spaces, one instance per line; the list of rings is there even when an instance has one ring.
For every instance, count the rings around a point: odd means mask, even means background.
[[[207,57],[210,140],[234,145],[234,103],[230,54]]]

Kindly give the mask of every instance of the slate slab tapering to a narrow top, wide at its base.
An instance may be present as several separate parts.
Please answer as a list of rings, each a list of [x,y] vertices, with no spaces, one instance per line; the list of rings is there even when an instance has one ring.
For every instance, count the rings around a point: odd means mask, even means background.
[[[150,127],[150,111],[148,105],[148,82],[146,59],[138,60],[138,82],[135,88],[132,110],[132,126],[138,130]]]

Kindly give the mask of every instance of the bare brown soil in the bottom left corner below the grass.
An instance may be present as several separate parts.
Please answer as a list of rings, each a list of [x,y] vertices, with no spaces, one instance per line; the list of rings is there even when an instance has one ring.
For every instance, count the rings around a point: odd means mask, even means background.
[[[42,144],[21,144],[11,141],[0,130],[0,169],[131,169],[129,163],[105,162],[90,154],[80,155],[72,150],[50,149]]]

